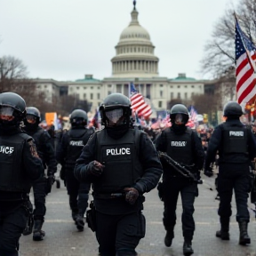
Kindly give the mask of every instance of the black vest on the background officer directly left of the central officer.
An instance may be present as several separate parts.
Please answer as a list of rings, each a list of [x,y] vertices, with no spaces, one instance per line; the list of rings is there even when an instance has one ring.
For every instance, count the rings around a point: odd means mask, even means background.
[[[76,159],[81,155],[82,150],[89,140],[92,132],[86,130],[69,130],[68,131],[68,150],[65,159],[66,167],[74,169]]]

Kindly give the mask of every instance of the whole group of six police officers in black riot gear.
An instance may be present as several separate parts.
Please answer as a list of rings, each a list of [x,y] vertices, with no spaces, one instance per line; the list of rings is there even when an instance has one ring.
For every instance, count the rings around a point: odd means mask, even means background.
[[[137,255],[146,232],[144,194],[156,187],[164,202],[165,246],[172,246],[175,236],[180,195],[183,254],[193,254],[197,185],[202,174],[212,177],[216,159],[220,196],[216,236],[229,240],[234,189],[239,244],[251,243],[247,199],[253,185],[256,125],[251,129],[240,122],[244,113],[236,101],[228,102],[223,112],[226,122],[214,129],[188,127],[188,108],[182,104],[171,108],[170,125],[164,129],[134,125],[131,101],[121,93],[108,95],[99,110],[99,130],[89,127],[83,109],[75,109],[69,117],[70,129],[51,133],[40,127],[39,109],[27,107],[16,93],[0,94],[0,256],[19,255],[22,234],[33,233],[34,241],[44,239],[45,196],[56,181],[57,164],[71,218],[78,231],[87,221],[100,256]],[[87,209],[90,190],[93,201]]]

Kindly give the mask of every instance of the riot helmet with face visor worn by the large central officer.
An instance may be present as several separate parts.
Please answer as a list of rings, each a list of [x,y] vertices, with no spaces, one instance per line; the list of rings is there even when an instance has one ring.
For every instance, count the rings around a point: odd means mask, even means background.
[[[122,93],[109,94],[100,104],[101,124],[115,127],[130,124],[131,100]]]

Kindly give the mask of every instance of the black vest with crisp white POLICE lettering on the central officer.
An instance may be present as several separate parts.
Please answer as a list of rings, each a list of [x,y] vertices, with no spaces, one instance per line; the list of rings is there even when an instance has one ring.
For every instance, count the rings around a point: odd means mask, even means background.
[[[140,130],[129,130],[118,140],[105,129],[97,134],[97,160],[105,165],[100,178],[93,183],[97,193],[121,192],[130,188],[143,174],[139,159]]]

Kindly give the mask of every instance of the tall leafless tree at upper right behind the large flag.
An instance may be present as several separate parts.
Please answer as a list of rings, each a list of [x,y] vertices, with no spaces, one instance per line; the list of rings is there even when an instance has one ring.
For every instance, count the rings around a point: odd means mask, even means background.
[[[214,78],[223,77],[225,71],[234,68],[235,57],[235,7],[230,7],[217,22],[212,32],[212,39],[204,47],[202,72]],[[256,1],[240,0],[236,16],[240,26],[252,42],[256,38]]]

